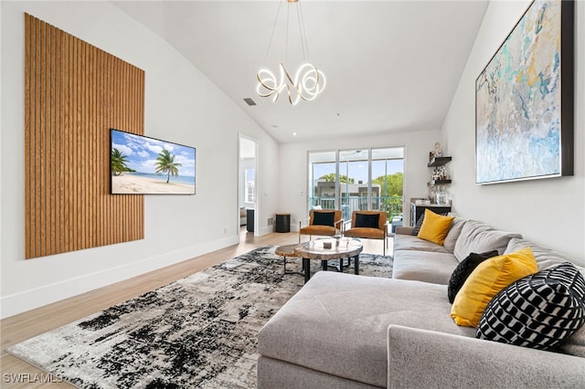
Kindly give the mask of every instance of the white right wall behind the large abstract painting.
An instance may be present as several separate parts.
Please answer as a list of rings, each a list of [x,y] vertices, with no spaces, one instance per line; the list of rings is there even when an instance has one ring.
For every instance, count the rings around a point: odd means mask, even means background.
[[[452,153],[454,211],[553,248],[585,264],[585,2],[575,2],[575,175],[476,185],[475,79],[529,1],[490,2],[442,131]]]

